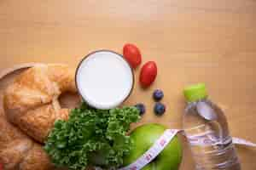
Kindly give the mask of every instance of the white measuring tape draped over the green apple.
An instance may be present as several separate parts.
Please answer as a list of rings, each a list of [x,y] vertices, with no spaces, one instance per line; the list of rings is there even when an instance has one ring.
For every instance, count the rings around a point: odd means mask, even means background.
[[[157,139],[154,144],[147,150],[143,156],[140,156],[137,161],[132,162],[127,167],[121,167],[119,170],[139,170],[145,167],[150,161],[153,161],[156,156],[165,149],[166,145],[173,139],[177,133],[183,133],[181,129],[166,129],[166,131]],[[245,139],[232,138],[233,144],[242,144],[246,146],[256,147],[256,144]],[[200,144],[200,143],[199,143]]]

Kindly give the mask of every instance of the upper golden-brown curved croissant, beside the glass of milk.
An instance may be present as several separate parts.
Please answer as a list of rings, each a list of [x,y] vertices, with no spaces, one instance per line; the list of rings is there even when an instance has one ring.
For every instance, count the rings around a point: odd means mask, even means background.
[[[57,119],[67,119],[58,97],[76,92],[74,71],[66,65],[38,65],[17,77],[4,94],[4,109],[9,122],[43,143]]]

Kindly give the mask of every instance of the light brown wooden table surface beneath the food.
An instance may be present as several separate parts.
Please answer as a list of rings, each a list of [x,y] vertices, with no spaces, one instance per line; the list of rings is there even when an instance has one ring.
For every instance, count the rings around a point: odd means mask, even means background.
[[[126,103],[147,105],[140,123],[181,127],[183,87],[206,82],[231,134],[256,142],[255,18],[255,0],[0,0],[0,71],[27,62],[75,67],[93,50],[121,53],[125,42],[136,43],[143,62],[159,67],[154,85],[136,83]],[[166,94],[165,116],[153,114],[154,88]],[[242,169],[256,169],[256,150],[237,150]],[[195,169],[186,144],[180,169]]]

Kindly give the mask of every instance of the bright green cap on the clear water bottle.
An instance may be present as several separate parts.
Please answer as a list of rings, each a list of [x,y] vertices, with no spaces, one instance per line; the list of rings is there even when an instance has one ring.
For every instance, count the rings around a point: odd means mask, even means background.
[[[204,83],[198,83],[184,88],[183,94],[187,101],[193,102],[207,98],[207,88]]]

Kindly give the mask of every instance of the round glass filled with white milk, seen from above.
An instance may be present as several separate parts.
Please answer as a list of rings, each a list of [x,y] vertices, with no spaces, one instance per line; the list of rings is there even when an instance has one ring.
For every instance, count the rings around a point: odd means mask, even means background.
[[[122,55],[109,50],[85,56],[79,63],[75,79],[84,101],[102,110],[122,104],[134,85],[131,66]]]

